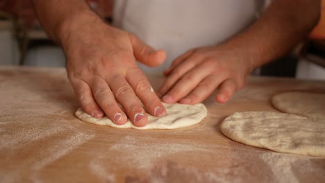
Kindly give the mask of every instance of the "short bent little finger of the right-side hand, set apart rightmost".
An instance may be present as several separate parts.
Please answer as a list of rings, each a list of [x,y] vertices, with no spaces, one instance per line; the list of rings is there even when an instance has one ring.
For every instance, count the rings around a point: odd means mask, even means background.
[[[233,93],[236,90],[236,82],[235,80],[228,78],[224,82],[222,82],[222,85],[219,87],[219,91],[217,96],[215,97],[215,100],[218,103],[225,103],[226,101],[233,96]]]

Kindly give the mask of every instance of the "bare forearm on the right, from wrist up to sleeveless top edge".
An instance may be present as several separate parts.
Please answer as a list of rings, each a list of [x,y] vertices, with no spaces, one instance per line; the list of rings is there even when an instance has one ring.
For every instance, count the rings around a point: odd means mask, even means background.
[[[319,0],[274,0],[255,24],[226,42],[251,70],[288,53],[317,24]]]

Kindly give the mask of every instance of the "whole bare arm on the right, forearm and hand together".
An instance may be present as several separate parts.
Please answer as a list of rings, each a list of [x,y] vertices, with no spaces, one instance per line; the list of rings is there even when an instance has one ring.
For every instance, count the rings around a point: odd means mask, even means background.
[[[165,71],[158,92],[166,103],[199,103],[219,89],[224,103],[256,67],[288,53],[319,19],[319,0],[274,0],[242,33],[216,46],[192,49]]]

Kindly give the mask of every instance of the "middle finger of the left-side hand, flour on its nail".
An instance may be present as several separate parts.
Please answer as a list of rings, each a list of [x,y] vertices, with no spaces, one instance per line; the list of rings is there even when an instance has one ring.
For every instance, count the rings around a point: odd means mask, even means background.
[[[148,118],[128,82],[123,76],[115,75],[107,79],[108,85],[112,89],[115,98],[122,105],[128,118],[138,127],[148,123]]]

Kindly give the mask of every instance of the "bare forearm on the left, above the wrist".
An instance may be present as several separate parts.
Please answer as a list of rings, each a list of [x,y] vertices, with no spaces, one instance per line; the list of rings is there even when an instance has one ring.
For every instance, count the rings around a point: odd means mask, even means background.
[[[33,0],[33,7],[44,30],[58,44],[74,30],[83,31],[88,22],[101,21],[86,1]]]

